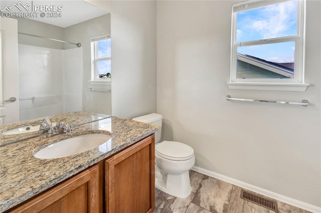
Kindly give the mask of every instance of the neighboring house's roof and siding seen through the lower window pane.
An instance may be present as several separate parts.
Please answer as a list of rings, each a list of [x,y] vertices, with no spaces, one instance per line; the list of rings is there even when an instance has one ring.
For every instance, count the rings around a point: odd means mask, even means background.
[[[238,78],[293,78],[293,63],[276,63],[237,53]]]

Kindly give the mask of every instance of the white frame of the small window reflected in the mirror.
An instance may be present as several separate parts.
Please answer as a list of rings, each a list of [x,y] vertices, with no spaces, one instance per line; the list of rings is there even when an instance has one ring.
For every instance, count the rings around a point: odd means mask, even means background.
[[[98,61],[101,60],[110,60],[111,57],[101,57],[98,58],[98,41],[103,40],[105,38],[110,39],[110,34],[101,35],[97,37],[91,38],[90,46],[91,46],[91,83],[105,83],[107,81],[111,81],[111,78],[99,78],[98,77]]]

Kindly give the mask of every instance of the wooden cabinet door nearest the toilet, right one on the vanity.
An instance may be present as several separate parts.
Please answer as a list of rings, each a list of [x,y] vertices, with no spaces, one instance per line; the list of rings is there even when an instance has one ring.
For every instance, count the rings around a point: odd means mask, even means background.
[[[106,212],[153,212],[154,135],[105,161]]]

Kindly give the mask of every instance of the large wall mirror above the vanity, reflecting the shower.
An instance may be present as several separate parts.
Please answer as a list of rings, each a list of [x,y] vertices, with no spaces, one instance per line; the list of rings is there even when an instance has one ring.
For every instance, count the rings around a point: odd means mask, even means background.
[[[2,48],[1,76],[7,79],[0,78],[0,108],[7,110],[0,111],[0,124],[78,110],[111,114],[110,74],[108,79],[92,76],[92,38],[108,37],[105,43],[110,48],[108,11],[83,0],[2,0],[0,7],[2,22],[3,17],[18,20],[19,67],[18,75],[8,79],[5,66],[10,55]],[[6,36],[1,36],[2,43]],[[6,101],[10,98],[6,91],[14,90],[14,82],[18,92],[10,97],[16,101]],[[14,104],[19,109],[8,112]]]

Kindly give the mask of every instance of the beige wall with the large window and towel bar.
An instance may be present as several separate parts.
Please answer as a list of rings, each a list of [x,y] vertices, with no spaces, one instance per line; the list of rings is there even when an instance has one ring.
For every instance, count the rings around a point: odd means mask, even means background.
[[[321,206],[321,1],[306,3],[305,78],[312,86],[305,92],[228,88],[234,2],[157,1],[163,139],[191,145],[199,167]],[[227,101],[227,94],[307,99],[309,106]]]

